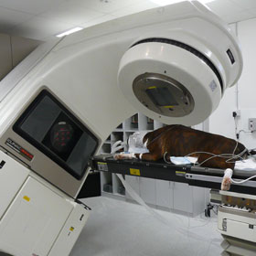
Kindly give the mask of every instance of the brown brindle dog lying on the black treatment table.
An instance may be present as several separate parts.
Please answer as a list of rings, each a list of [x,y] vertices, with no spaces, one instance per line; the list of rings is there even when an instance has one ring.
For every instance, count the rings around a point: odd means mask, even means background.
[[[227,158],[214,157],[208,159],[209,154],[196,153],[190,156],[197,156],[197,162],[203,163],[202,166],[212,168],[234,168],[234,162],[240,158],[231,159],[227,162],[230,155],[247,155],[247,150],[243,144],[235,140],[220,136],[217,134],[197,131],[184,125],[173,124],[157,129],[144,135],[143,142],[149,153],[142,155],[135,154],[136,158],[146,161],[156,161],[164,157],[170,159],[170,156],[186,156],[194,152],[208,152],[214,155],[229,154]],[[124,158],[122,156],[116,158]],[[208,159],[208,161],[206,161]]]

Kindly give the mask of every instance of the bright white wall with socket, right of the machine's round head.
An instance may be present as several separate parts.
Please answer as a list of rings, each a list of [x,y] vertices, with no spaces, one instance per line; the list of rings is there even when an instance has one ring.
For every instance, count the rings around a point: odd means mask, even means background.
[[[238,131],[248,132],[248,119],[256,118],[256,19],[242,21],[231,27],[240,39],[243,71],[238,84],[226,91],[219,108],[209,117],[209,132],[235,138],[233,111],[240,110]],[[256,132],[241,132],[240,142],[248,148],[256,147]]]

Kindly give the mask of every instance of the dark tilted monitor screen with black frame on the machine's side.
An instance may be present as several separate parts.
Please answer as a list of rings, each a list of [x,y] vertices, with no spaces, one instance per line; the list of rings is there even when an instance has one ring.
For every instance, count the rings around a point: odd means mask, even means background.
[[[14,131],[80,179],[99,141],[48,91],[39,93],[14,125]]]

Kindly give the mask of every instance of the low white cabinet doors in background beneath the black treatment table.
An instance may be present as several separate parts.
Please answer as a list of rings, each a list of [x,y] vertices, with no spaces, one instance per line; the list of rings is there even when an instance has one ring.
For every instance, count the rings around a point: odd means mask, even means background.
[[[206,208],[204,187],[139,176],[125,176],[125,180],[147,204],[192,216],[197,216]],[[133,199],[128,193],[126,198]]]

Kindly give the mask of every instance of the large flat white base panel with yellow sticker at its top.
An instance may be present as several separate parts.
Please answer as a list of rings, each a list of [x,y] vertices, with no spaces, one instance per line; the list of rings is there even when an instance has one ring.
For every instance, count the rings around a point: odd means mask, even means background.
[[[73,206],[28,177],[0,222],[0,247],[12,255],[48,255]]]

